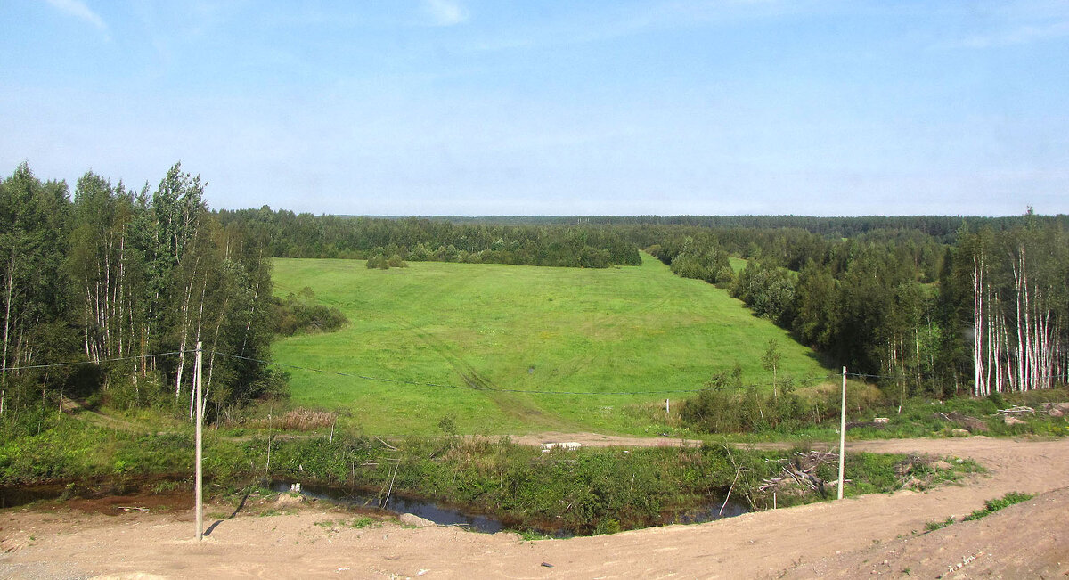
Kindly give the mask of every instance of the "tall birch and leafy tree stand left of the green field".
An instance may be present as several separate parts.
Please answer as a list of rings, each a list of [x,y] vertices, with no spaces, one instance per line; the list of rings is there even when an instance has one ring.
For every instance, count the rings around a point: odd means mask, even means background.
[[[248,360],[269,357],[266,244],[221,224],[203,190],[179,165],[155,190],[89,172],[72,198],[27,164],[0,182],[0,414],[64,395],[191,412],[198,342],[210,415],[277,386]],[[41,366],[78,361],[99,364]]]

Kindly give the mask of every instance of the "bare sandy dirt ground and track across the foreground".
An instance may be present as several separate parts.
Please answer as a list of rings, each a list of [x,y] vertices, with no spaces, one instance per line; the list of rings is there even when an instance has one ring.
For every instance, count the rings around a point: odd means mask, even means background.
[[[587,437],[589,436],[582,436]],[[553,433],[534,438],[576,441]],[[653,440],[646,444],[660,443]],[[540,442],[540,441],[531,441]],[[234,517],[208,507],[192,540],[184,506],[148,512],[66,504],[0,512],[0,577],[11,578],[1053,578],[1069,576],[1069,440],[982,437],[858,442],[849,451],[971,457],[965,485],[746,514],[695,525],[525,541],[510,533],[414,528],[304,504]],[[1038,493],[987,518],[926,533],[1008,491]],[[142,501],[142,503],[137,503]],[[115,500],[120,501],[120,500]],[[330,523],[335,522],[335,523]]]

